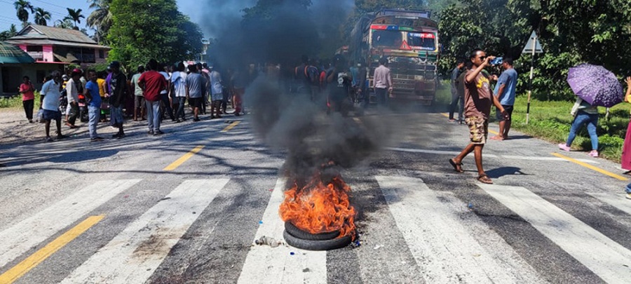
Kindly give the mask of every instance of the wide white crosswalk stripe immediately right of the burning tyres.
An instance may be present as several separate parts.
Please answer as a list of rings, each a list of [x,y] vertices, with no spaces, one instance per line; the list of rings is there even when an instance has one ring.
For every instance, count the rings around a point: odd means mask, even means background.
[[[543,283],[534,270],[510,245],[488,228],[485,238],[496,241],[482,245],[461,224],[457,205],[449,205],[411,177],[376,177],[399,231],[428,283]],[[463,208],[463,210],[465,210]]]

